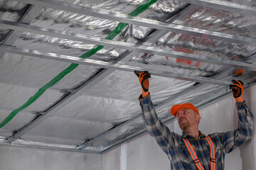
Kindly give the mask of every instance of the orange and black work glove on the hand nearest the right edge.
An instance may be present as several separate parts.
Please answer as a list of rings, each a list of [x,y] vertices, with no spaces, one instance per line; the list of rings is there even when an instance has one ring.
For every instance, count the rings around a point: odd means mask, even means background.
[[[233,96],[235,98],[235,101],[237,102],[243,102],[244,100],[242,99],[242,92],[244,90],[243,86],[245,85],[242,81],[240,80],[232,80],[234,84],[230,84],[230,89],[233,91]]]

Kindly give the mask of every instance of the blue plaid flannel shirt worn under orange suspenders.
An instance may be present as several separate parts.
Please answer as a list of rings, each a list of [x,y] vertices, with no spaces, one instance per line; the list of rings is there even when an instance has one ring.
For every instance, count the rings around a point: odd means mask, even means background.
[[[191,155],[184,144],[185,137],[196,152],[198,159],[204,169],[210,170],[210,146],[205,135],[199,135],[198,139],[186,135],[178,135],[171,132],[156,115],[151,96],[139,97],[142,106],[142,118],[146,124],[149,135],[155,138],[159,147],[167,154],[171,163],[171,169],[197,169]],[[247,108],[246,103],[236,103],[238,109],[238,129],[228,132],[215,132],[210,134],[215,146],[216,169],[224,170],[225,154],[232,152],[235,148],[250,140],[253,134],[253,115]]]

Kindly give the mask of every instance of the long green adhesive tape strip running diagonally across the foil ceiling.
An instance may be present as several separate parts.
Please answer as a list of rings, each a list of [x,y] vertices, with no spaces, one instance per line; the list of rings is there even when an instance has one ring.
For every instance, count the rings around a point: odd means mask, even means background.
[[[146,0],[144,1],[143,4],[141,4],[140,6],[138,6],[134,11],[132,11],[131,13],[129,13],[129,16],[138,16],[140,13],[142,13],[143,11],[145,11],[147,8],[149,8],[149,6],[151,6],[152,4],[156,3],[156,1],[158,0]],[[114,30],[112,30],[112,32],[107,35],[107,37],[105,39],[107,40],[112,40],[114,37],[116,37],[119,33],[121,33],[121,31],[128,26],[127,23],[119,23],[118,26],[116,28],[114,28]],[[95,47],[93,47],[91,50],[88,50],[87,52],[85,52],[85,54],[81,55],[80,58],[88,58],[91,57],[92,55],[95,55],[96,52],[102,50],[102,48],[104,48],[104,46],[102,45],[96,45]],[[60,81],[61,79],[63,79],[63,77],[65,77],[67,74],[69,74],[70,72],[72,72],[76,67],[78,67],[79,64],[70,64],[70,66],[68,66],[66,69],[64,69],[62,72],[60,72],[60,74],[58,74],[56,77],[54,77],[52,80],[50,80],[48,82],[48,84],[44,85],[43,87],[41,87],[36,94],[34,94],[31,98],[28,99],[28,101],[26,101],[26,103],[24,103],[21,107],[16,108],[14,111],[12,111],[1,123],[0,123],[0,128],[3,128],[4,125],[6,125],[7,123],[9,123],[9,121],[11,121],[17,114],[18,112],[22,111],[23,109],[27,108],[28,106],[30,106],[33,102],[35,102],[40,96],[43,95],[43,93],[49,89],[51,86],[54,86],[56,83],[58,83],[58,81]]]

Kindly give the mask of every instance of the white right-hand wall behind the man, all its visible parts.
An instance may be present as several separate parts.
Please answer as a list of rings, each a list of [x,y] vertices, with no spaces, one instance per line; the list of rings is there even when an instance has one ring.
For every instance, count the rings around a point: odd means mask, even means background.
[[[256,86],[246,89],[243,96],[252,113],[256,115]],[[199,128],[205,135],[237,128],[238,115],[233,96],[224,98],[206,108],[202,108],[199,112],[201,113]],[[181,134],[176,121],[170,123],[168,126],[170,130]],[[256,170],[255,146],[256,137],[254,135],[252,140],[246,142],[230,154],[226,154],[225,170]],[[171,169],[166,154],[161,151],[154,138],[149,135],[143,135],[102,155],[102,170],[144,169]]]

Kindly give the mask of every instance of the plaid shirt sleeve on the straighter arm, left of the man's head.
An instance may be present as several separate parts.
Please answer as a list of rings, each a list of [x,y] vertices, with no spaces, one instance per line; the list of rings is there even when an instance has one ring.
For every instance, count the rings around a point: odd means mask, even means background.
[[[169,146],[171,145],[171,132],[164,123],[161,123],[153,103],[151,101],[150,94],[144,98],[139,97],[140,105],[142,106],[142,118],[146,125],[146,130],[151,137],[154,137],[159,147],[169,154]]]

